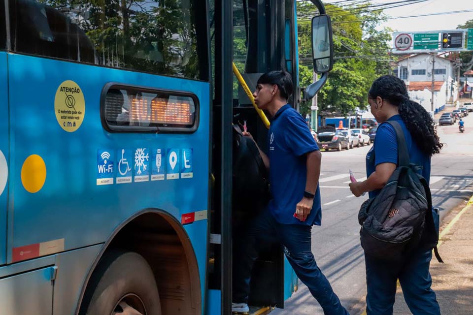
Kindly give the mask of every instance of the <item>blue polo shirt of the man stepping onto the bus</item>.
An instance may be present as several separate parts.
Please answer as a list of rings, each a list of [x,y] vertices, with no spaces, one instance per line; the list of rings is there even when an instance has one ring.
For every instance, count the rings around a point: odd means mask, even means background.
[[[320,225],[322,211],[320,189],[304,222],[294,218],[296,205],[304,197],[307,166],[305,154],[319,150],[304,118],[289,104],[281,107],[271,122],[270,145],[270,213],[282,224]]]

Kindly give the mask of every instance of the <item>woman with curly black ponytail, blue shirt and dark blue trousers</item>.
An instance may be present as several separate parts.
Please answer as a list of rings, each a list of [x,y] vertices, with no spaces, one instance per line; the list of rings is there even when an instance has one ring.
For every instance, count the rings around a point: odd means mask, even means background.
[[[402,126],[410,162],[421,166],[419,173],[429,183],[431,157],[442,148],[430,114],[409,99],[404,82],[392,75],[382,76],[373,82],[368,102],[380,126],[366,159],[368,179],[350,184],[352,193],[358,197],[369,192],[370,198],[374,198],[397,167],[396,131],[390,124],[383,124],[387,121],[397,121]],[[412,314],[440,315],[435,292],[431,289],[431,259],[432,248],[423,245],[422,241],[410,257],[401,262],[381,261],[365,255],[367,314],[393,314],[396,283],[399,280]]]

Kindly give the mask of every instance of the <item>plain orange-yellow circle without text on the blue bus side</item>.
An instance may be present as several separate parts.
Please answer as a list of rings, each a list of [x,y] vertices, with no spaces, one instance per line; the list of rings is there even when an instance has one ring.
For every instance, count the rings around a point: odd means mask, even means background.
[[[46,164],[44,160],[33,154],[23,163],[21,168],[21,183],[23,187],[31,193],[38,192],[43,188],[46,181]]]

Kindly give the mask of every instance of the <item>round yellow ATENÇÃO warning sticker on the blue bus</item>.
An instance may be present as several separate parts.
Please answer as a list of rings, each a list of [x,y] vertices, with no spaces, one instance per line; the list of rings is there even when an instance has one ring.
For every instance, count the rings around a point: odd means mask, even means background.
[[[61,83],[54,98],[54,111],[64,130],[74,132],[80,127],[85,115],[85,100],[77,83],[71,80]]]

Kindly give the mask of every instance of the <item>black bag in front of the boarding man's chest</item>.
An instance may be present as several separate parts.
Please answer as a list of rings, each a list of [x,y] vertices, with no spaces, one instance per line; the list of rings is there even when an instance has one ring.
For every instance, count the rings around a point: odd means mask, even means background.
[[[233,131],[233,207],[256,215],[269,200],[268,171],[253,140]]]

